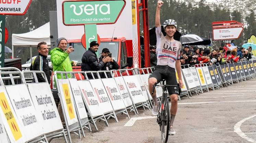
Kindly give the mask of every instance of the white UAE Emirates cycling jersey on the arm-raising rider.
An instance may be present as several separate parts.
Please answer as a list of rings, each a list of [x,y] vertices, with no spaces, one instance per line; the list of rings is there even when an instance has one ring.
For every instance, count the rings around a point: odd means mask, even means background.
[[[161,27],[156,27],[157,37],[157,65],[168,65],[175,68],[175,61],[180,60],[181,42],[174,40],[171,42],[163,36]]]

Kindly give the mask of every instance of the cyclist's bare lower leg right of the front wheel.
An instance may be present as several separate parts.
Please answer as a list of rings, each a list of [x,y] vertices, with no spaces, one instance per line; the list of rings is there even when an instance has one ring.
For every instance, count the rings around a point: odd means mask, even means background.
[[[170,114],[171,114],[171,120],[170,120],[170,127],[173,126],[174,118],[178,110],[178,95],[177,94],[172,94],[170,95],[171,98],[171,109],[170,109]]]

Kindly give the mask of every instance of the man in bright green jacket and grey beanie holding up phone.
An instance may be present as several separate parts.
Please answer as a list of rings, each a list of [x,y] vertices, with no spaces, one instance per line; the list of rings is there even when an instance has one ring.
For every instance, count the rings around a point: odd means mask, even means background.
[[[72,46],[69,46],[68,49],[66,49],[67,44],[68,44],[68,40],[66,38],[64,37],[58,38],[57,39],[58,47],[50,51],[49,54],[51,55],[53,72],[54,71],[72,72],[72,65],[76,66],[76,62],[73,62],[73,61],[71,62],[69,59],[69,53],[73,52],[74,48]],[[70,75],[68,75],[68,77],[70,77]],[[61,75],[57,74],[57,78],[61,79]],[[63,78],[65,77],[63,76]],[[58,105],[58,112],[60,114],[61,122],[62,124],[64,124],[65,120],[64,120],[64,115],[63,115],[60,103]]]

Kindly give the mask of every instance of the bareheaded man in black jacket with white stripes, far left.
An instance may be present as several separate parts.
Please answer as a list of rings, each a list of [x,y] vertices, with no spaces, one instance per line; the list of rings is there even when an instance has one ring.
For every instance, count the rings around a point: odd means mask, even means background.
[[[38,50],[38,56],[32,61],[30,70],[40,70],[44,71],[46,74],[46,78],[48,83],[50,84],[50,68],[47,61],[47,55],[48,55],[48,45],[46,42],[40,42],[37,45]],[[38,82],[45,82],[44,76],[42,74],[36,74]],[[34,81],[34,80],[33,80]]]

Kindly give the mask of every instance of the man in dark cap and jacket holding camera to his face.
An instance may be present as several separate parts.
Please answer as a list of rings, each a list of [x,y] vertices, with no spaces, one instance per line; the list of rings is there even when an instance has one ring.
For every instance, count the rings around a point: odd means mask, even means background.
[[[109,57],[108,53],[110,53],[109,49],[108,48],[103,48],[102,52],[101,52],[101,56],[99,58],[99,62],[103,61],[103,59],[105,57]],[[101,68],[101,70],[119,69],[119,65],[117,64],[117,62],[115,60],[113,60],[112,57],[110,57],[110,58],[111,58],[111,61],[105,63],[104,66]],[[101,74],[100,77],[104,78],[105,75]]]

